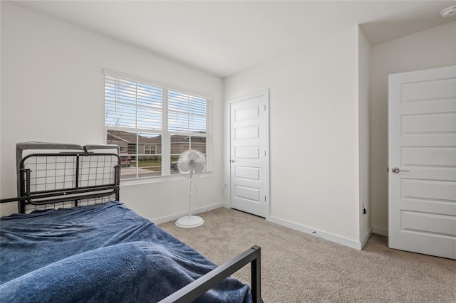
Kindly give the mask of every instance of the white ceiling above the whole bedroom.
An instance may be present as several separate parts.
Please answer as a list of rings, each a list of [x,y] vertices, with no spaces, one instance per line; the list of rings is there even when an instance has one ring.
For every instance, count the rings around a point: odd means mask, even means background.
[[[221,78],[351,25],[377,45],[456,20],[456,0],[14,2]]]

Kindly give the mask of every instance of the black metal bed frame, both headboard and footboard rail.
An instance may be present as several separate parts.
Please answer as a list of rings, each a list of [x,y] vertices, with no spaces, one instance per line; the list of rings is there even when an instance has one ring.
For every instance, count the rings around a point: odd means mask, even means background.
[[[19,144],[18,144],[19,149]],[[19,155],[19,153],[18,153]],[[51,171],[51,172],[49,172]],[[120,157],[89,152],[33,153],[18,159],[18,196],[0,203],[18,202],[19,213],[36,209],[75,207],[119,201]],[[101,178],[100,178],[101,176]],[[251,264],[253,302],[261,300],[261,248],[254,245],[232,260],[177,290],[160,303],[192,302],[225,278]]]

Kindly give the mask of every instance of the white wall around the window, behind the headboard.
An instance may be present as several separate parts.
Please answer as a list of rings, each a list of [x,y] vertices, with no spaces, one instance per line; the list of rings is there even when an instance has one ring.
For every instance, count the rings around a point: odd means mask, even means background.
[[[17,142],[105,142],[103,68],[214,98],[214,173],[198,179],[193,205],[216,203],[222,183],[220,78],[6,1],[1,1],[1,198],[16,196]],[[181,179],[121,186],[120,197],[153,220],[187,211],[187,185]],[[16,210],[14,203],[6,207],[2,215]]]

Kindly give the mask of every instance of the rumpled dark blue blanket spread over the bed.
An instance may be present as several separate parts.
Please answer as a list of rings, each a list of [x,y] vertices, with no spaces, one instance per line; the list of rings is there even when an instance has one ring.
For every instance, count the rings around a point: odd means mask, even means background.
[[[0,219],[0,302],[157,302],[216,265],[109,202]],[[231,277],[197,302],[252,302]]]

